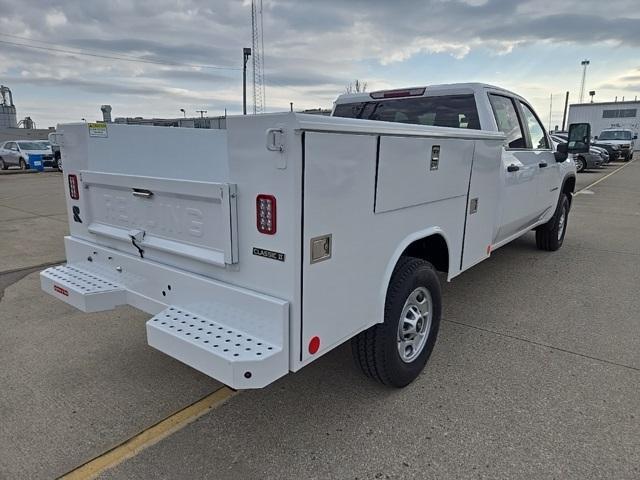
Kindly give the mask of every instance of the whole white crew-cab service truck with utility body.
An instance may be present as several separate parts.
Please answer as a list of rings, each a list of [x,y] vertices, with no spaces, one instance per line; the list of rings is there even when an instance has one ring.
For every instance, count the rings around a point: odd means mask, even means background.
[[[350,118],[347,118],[350,117]],[[575,187],[530,105],[489,85],[341,96],[332,117],[226,130],[60,125],[70,235],[47,293],[132,305],[151,346],[237,389],[347,340],[402,387],[434,347],[448,280],[535,230],[562,245]]]

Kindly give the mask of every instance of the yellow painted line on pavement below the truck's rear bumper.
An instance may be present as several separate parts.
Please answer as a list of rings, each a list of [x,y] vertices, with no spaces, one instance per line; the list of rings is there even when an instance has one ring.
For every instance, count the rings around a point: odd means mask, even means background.
[[[117,447],[71,470],[69,473],[60,477],[60,479],[79,480],[96,478],[105,470],[115,467],[126,459],[134,457],[146,448],[155,445],[163,438],[181,430],[213,408],[220,406],[235,394],[236,392],[230,388],[222,387],[164,420],[161,420],[152,427],[138,433]]]

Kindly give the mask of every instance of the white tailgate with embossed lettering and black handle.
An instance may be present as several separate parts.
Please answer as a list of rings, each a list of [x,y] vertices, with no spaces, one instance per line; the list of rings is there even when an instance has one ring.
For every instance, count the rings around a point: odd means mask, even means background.
[[[82,220],[96,243],[164,263],[237,262],[234,184],[86,170],[80,177]]]

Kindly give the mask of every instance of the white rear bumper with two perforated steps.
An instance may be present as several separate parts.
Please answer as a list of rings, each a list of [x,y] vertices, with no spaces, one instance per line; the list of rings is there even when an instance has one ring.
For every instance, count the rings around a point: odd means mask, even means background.
[[[289,371],[287,301],[70,237],[65,244],[69,263],[40,273],[45,292],[84,312],[128,304],[155,314],[149,345],[235,389]]]

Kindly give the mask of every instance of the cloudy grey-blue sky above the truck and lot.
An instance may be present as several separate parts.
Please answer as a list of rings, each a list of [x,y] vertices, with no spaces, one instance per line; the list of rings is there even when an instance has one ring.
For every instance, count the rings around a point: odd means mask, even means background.
[[[553,95],[557,124],[584,58],[597,100],[640,96],[637,0],[263,2],[268,111],[329,108],[356,78],[369,90],[481,81],[524,95],[545,123]],[[105,103],[114,117],[239,113],[250,12],[241,0],[0,0],[0,83],[39,127],[98,119]]]

